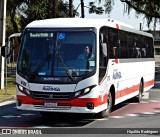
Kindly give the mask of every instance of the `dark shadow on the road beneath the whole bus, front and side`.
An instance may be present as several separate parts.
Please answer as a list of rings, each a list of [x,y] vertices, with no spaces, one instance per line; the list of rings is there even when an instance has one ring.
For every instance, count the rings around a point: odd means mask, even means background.
[[[129,99],[113,107],[112,113],[122,109],[130,103],[134,103],[133,99]],[[27,111],[26,111],[27,112]],[[24,113],[24,112],[20,112]],[[19,113],[19,114],[20,114]],[[28,112],[29,113],[29,112]],[[22,121],[17,122],[17,126],[38,127],[38,128],[58,128],[58,127],[84,127],[94,121],[101,119],[99,115],[93,114],[75,114],[75,113],[48,113],[46,116],[40,115],[39,112],[35,115],[23,117]]]

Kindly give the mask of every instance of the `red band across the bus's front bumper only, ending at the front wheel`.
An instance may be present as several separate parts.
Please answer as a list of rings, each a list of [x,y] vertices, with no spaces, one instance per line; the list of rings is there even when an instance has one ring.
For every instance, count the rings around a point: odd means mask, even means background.
[[[45,102],[56,102],[58,106],[75,106],[75,107],[86,107],[87,103],[94,103],[94,107],[107,103],[108,95],[105,94],[102,97],[98,98],[75,98],[67,101],[57,101],[57,100],[36,100],[29,96],[17,95],[17,100],[21,100],[22,104],[31,104],[31,105],[44,105]]]

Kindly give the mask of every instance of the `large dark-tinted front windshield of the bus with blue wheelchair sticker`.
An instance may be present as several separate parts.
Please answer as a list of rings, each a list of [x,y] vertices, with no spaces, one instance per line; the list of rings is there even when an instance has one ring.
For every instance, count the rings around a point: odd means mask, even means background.
[[[96,37],[92,31],[24,33],[17,71],[27,76],[80,77],[95,70]]]

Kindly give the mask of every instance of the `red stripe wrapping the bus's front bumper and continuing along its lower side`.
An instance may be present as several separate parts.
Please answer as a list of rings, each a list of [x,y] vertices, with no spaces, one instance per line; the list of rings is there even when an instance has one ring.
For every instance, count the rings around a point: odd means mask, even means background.
[[[152,86],[154,80],[144,83],[144,88]],[[116,92],[115,99],[129,95],[135,91],[139,90],[139,84],[130,88],[126,88]],[[103,98],[103,99],[102,99]],[[75,107],[86,107],[86,103],[94,103],[94,107],[107,103],[108,95],[98,98],[75,98],[68,101],[57,101],[57,100],[36,100],[29,96],[17,95],[17,100],[21,100],[22,104],[31,104],[31,105],[44,105],[45,102],[57,102],[59,106],[75,106]]]

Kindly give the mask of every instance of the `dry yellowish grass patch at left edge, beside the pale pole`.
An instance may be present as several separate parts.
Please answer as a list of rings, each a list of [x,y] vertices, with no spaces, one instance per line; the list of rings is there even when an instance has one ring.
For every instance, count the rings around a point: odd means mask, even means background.
[[[4,85],[5,84],[6,83],[4,83]],[[5,89],[0,89],[0,101],[13,98],[15,95],[16,95],[16,78],[8,77],[7,90],[6,90],[6,87]]]

